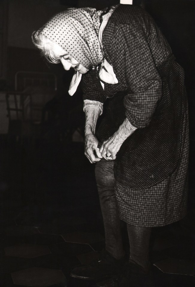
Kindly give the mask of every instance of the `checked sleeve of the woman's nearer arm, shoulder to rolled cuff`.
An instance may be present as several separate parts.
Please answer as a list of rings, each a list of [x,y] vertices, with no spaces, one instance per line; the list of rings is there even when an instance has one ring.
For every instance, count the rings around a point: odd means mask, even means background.
[[[126,117],[136,128],[143,128],[150,123],[162,95],[146,31],[137,23],[117,26],[108,50],[117,79],[129,89],[124,98]]]

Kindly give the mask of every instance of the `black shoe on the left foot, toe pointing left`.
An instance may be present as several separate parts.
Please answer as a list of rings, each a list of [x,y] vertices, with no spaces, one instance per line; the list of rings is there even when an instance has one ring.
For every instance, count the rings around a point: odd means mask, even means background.
[[[70,276],[77,279],[101,280],[105,278],[117,277],[121,269],[126,264],[126,259],[117,260],[107,251],[102,251],[101,257],[90,265],[80,265],[75,267]]]

